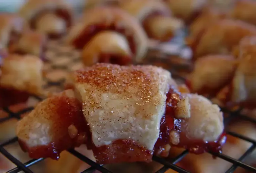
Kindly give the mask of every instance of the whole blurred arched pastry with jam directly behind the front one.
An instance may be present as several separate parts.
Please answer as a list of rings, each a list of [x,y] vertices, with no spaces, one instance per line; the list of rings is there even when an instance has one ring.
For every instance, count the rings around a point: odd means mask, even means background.
[[[84,65],[141,61],[148,38],[139,22],[116,7],[95,7],[71,28],[67,42],[82,50]]]

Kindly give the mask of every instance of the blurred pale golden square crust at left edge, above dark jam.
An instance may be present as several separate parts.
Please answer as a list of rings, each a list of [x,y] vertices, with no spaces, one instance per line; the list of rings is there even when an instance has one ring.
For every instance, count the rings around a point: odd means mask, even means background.
[[[43,62],[33,55],[11,54],[3,59],[0,86],[41,95]]]

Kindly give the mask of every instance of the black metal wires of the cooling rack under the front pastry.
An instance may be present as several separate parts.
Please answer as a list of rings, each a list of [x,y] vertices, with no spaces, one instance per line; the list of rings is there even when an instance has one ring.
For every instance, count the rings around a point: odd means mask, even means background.
[[[152,59],[158,59],[159,58],[156,58],[156,57],[152,57]],[[152,60],[153,61],[153,60]],[[168,60],[167,59],[161,59],[161,63],[168,63],[167,62]],[[158,61],[159,62],[159,61]],[[55,68],[58,68],[58,67],[55,67]],[[61,67],[61,68],[64,68],[64,67]],[[172,77],[173,78],[176,78],[176,79],[179,79],[179,80],[182,80],[184,81],[185,78],[180,76],[178,73],[176,73],[176,70],[178,69],[183,69],[185,67],[183,66],[176,66],[176,68],[172,68],[172,69],[169,69],[172,73]],[[59,68],[60,69],[60,68]],[[174,70],[173,70],[174,69]],[[58,81],[58,82],[50,82],[48,81],[48,84],[47,86],[45,86],[46,88],[49,87],[49,86],[56,86],[56,85],[61,85],[63,84],[63,81]],[[42,100],[41,97],[38,97],[38,96],[34,96],[34,98],[38,99],[39,101]],[[5,122],[5,121],[8,121],[9,119],[11,118],[16,118],[16,119],[20,119],[20,116],[24,113],[27,113],[29,111],[31,111],[33,109],[33,107],[29,107],[29,108],[26,108],[26,109],[23,109],[23,110],[20,110],[19,112],[17,113],[14,113],[12,112],[9,108],[3,108],[3,110],[9,115],[8,117],[5,117],[5,118],[2,118],[0,119],[0,123],[2,122]],[[225,124],[227,124],[228,122],[230,122],[233,118],[235,117],[239,117],[243,120],[246,120],[246,121],[250,121],[250,122],[253,122],[253,123],[256,123],[256,120],[253,119],[253,118],[250,118],[250,117],[247,117],[247,116],[244,116],[244,115],[241,115],[240,113],[240,110],[237,110],[235,112],[230,112],[229,110],[226,110],[226,109],[222,109],[225,113],[229,113],[229,117],[225,118]],[[226,171],[226,173],[231,173],[233,172],[237,167],[242,167],[248,171],[252,171],[252,172],[256,172],[256,168],[253,168],[252,166],[250,165],[247,165],[245,163],[243,163],[242,161],[248,156],[250,155],[253,150],[256,148],[256,141],[249,138],[249,137],[245,137],[241,134],[238,134],[238,133],[235,133],[235,132],[232,132],[232,131],[227,131],[227,134],[228,135],[231,135],[235,138],[238,138],[238,139],[241,139],[241,140],[244,140],[244,141],[247,141],[249,143],[252,144],[252,146],[239,158],[239,159],[234,159],[234,158],[231,158],[230,156],[227,156],[225,154],[222,154],[222,153],[211,153],[212,155],[216,156],[216,157],[219,157],[219,158],[222,158],[223,160],[226,160],[230,163],[232,163],[233,165]],[[13,139],[10,139],[2,144],[0,144],[0,152],[5,156],[7,157],[11,162],[13,162],[17,167],[14,168],[14,169],[11,169],[9,171],[7,171],[7,173],[17,173],[19,171],[24,171],[25,173],[32,173],[32,171],[28,168],[32,165],[35,165],[39,162],[41,162],[43,160],[43,158],[39,158],[39,159],[31,159],[29,160],[28,162],[26,163],[21,163],[17,158],[15,158],[13,155],[11,155],[7,150],[4,149],[5,146],[9,145],[9,144],[12,144],[14,142],[17,142],[18,139],[17,137],[13,138]],[[98,170],[102,173],[111,173],[111,171],[109,171],[108,169],[104,168],[103,165],[99,165],[97,163],[95,163],[94,161],[90,160],[88,157],[84,156],[83,154],[75,151],[75,150],[68,150],[72,155],[76,156],[77,158],[79,158],[80,160],[82,160],[83,162],[89,164],[91,167],[84,170],[83,172],[81,173],[92,173],[94,172],[95,170]],[[179,166],[177,166],[176,164],[178,162],[180,162],[186,155],[188,154],[188,151],[185,150],[184,152],[182,152],[180,155],[178,155],[177,157],[173,158],[173,159],[165,159],[165,158],[160,158],[160,157],[157,157],[157,156],[153,156],[153,160],[155,162],[158,162],[160,164],[163,165],[163,167],[161,169],[159,169],[156,173],[164,173],[166,172],[168,169],[172,169],[174,171],[177,171],[179,173],[189,173],[187,170],[183,169],[183,168],[180,168]]]

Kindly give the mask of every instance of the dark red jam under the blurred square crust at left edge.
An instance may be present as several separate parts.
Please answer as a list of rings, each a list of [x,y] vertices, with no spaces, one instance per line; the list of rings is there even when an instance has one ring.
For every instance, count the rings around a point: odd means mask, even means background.
[[[29,96],[27,92],[0,87],[0,107],[26,102]]]

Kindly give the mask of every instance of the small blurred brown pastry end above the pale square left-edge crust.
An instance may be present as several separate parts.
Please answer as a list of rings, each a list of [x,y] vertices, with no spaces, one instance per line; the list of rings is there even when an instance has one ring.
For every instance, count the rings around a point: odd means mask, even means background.
[[[45,59],[47,37],[37,31],[24,31],[10,53],[30,54]]]

